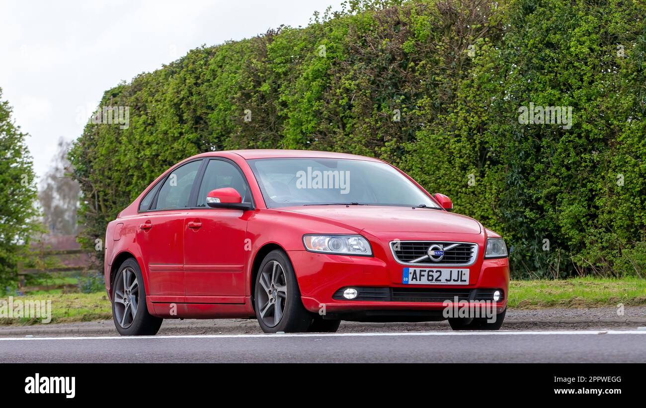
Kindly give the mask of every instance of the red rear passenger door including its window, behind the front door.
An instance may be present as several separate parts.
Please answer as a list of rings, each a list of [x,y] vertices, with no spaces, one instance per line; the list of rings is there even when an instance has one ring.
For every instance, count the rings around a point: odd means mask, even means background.
[[[201,165],[202,159],[198,159],[175,168],[160,181],[160,187],[154,187],[154,199],[147,195],[141,200],[136,239],[152,301],[183,301],[183,222]],[[145,207],[148,201],[151,203]]]

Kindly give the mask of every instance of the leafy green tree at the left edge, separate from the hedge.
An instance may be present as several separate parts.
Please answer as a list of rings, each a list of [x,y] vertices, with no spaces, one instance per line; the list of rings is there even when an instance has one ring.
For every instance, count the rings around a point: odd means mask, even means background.
[[[0,285],[16,281],[17,263],[36,230],[36,185],[27,134],[11,117],[0,88]]]

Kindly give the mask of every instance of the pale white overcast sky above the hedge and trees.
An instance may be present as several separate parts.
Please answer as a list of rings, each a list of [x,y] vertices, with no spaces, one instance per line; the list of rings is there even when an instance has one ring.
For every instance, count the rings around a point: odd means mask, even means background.
[[[341,0],[0,2],[0,88],[41,177],[103,92],[203,44],[306,26]]]

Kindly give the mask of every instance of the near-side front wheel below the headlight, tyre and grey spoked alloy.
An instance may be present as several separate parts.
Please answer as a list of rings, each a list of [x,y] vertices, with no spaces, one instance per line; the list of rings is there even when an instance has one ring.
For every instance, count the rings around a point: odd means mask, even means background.
[[[300,333],[309,328],[312,316],[300,300],[294,268],[282,250],[269,252],[260,264],[254,294],[262,331]]]

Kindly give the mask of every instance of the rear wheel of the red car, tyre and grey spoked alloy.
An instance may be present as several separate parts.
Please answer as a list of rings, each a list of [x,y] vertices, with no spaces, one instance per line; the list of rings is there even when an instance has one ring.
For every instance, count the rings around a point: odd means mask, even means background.
[[[148,312],[141,269],[132,258],[121,264],[112,283],[112,320],[121,336],[154,336],[163,321]]]

